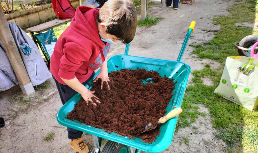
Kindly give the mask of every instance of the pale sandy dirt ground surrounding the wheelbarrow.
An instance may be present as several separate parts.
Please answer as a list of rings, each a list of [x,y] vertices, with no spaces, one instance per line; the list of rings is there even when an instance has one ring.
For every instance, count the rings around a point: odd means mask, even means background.
[[[219,30],[219,26],[212,24],[215,15],[226,15],[226,8],[232,4],[230,0],[198,0],[193,5],[180,4],[179,10],[163,7],[157,2],[149,14],[163,17],[159,24],[148,28],[137,29],[135,39],[131,42],[129,55],[150,57],[156,59],[176,60],[186,35],[186,30],[192,20],[196,21],[195,30],[188,44],[203,43],[212,39],[214,34],[208,30]],[[108,58],[123,54],[125,45],[118,43],[111,47]],[[192,47],[189,45],[183,55],[182,62],[188,64],[192,70],[204,68],[210,60],[199,60],[192,57]],[[213,68],[219,66],[213,62]],[[206,80],[209,84],[210,81]],[[49,86],[48,89],[45,89]],[[5,118],[6,126],[0,129],[0,152],[73,152],[68,145],[66,127],[57,123],[56,114],[62,106],[53,79],[48,79],[41,90],[33,96],[17,100],[21,96],[19,86],[0,92],[0,117]],[[25,104],[24,104],[25,103]],[[212,128],[208,109],[198,105],[199,111],[206,112],[206,117],[197,118],[191,127],[181,128],[175,133],[170,147],[163,153],[170,152],[224,152],[226,144],[215,139],[215,129]],[[202,122],[202,124],[200,123]],[[197,130],[193,127],[198,127]],[[48,133],[54,133],[50,142],[43,141]],[[92,138],[84,134],[87,144],[93,148]],[[183,137],[189,137],[185,143]],[[92,150],[93,151],[93,150]]]

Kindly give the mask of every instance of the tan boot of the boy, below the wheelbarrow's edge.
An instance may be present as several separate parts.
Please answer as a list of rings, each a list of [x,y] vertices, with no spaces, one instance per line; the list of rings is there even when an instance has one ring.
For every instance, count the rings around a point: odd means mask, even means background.
[[[76,153],[92,153],[89,147],[85,144],[82,136],[78,139],[71,140],[69,144]]]

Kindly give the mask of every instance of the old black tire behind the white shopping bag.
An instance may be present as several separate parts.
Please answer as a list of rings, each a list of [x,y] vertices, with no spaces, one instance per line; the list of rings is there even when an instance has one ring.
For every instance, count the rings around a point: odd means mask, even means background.
[[[255,44],[255,42],[257,42],[257,40],[258,40],[258,35],[249,35],[249,36],[246,36],[245,38],[243,38],[239,42],[238,46],[244,47],[244,48],[250,48],[250,50],[244,51],[244,50],[238,49],[239,55],[250,57],[251,48]]]

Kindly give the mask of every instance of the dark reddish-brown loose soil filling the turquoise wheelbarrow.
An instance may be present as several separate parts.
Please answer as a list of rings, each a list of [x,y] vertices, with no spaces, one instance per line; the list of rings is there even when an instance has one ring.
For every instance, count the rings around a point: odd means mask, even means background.
[[[86,105],[84,100],[75,104],[67,118],[78,120],[96,128],[123,136],[139,137],[146,143],[156,140],[159,126],[155,130],[142,132],[148,122],[157,123],[166,113],[165,108],[172,98],[175,88],[172,79],[161,78],[156,71],[145,69],[113,71],[109,73],[112,82],[110,90],[104,83],[100,89],[101,80],[93,84],[92,91],[100,99],[101,104]],[[143,84],[142,80],[152,78],[153,83]],[[147,81],[149,82],[149,81]]]

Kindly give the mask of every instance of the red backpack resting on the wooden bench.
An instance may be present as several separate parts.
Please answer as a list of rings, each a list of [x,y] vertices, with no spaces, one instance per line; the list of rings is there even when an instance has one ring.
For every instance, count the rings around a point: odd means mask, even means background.
[[[75,9],[69,0],[52,0],[52,5],[57,18],[70,19],[75,16]]]

